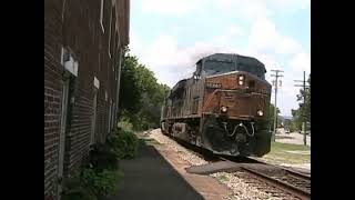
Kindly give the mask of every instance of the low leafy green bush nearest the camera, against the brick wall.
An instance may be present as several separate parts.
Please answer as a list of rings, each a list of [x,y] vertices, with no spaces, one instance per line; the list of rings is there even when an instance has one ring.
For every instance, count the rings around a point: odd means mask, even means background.
[[[114,194],[122,176],[123,173],[118,170],[104,169],[98,172],[95,169],[85,168],[81,180],[97,197],[105,197]]]

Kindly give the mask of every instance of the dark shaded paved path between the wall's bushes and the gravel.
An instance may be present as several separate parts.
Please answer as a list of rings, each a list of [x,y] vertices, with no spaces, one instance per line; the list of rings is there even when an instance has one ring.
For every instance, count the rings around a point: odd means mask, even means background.
[[[138,158],[120,161],[124,178],[109,200],[199,200],[197,193],[153,146],[142,144]]]

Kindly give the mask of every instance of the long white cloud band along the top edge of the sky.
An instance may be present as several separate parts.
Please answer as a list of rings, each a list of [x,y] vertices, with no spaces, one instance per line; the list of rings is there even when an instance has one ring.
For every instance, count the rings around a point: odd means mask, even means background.
[[[268,18],[275,13],[293,13],[308,9],[311,0],[141,0],[143,12],[183,16],[212,9],[244,19]]]

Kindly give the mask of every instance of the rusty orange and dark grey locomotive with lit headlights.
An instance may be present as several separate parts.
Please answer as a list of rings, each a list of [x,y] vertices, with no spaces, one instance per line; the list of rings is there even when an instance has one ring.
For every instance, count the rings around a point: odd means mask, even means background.
[[[270,152],[266,118],[272,86],[255,58],[214,53],[200,59],[179,81],[161,113],[164,134],[216,154],[262,157]]]

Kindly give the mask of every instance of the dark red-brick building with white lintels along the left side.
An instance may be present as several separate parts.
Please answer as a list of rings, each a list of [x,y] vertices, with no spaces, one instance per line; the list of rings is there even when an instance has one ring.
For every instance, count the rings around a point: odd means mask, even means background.
[[[130,0],[44,1],[44,199],[116,124]]]

